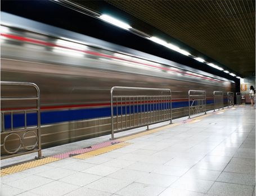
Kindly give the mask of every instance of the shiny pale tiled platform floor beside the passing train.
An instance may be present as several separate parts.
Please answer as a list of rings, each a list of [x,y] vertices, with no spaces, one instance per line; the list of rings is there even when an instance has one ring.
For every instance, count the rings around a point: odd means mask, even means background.
[[[255,195],[254,107],[161,125],[118,133],[114,141],[54,147],[41,160],[2,167],[1,195]]]

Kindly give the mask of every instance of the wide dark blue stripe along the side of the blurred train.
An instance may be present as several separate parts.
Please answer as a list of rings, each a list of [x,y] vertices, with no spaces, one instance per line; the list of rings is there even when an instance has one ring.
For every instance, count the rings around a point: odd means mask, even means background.
[[[224,99],[225,101],[225,99]],[[206,104],[213,104],[213,100],[207,100]],[[154,108],[158,109],[160,106],[162,108],[167,107],[166,104],[154,104]],[[188,101],[172,102],[172,108],[183,108],[188,106]],[[150,105],[145,105],[145,111]],[[151,110],[153,109],[153,104],[151,104]],[[125,106],[122,108],[123,114],[125,114]],[[138,111],[144,111],[144,106],[142,108],[138,107]],[[110,107],[107,108],[86,108],[86,109],[71,109],[71,110],[59,110],[59,111],[41,111],[41,124],[51,124],[51,123],[61,123],[73,120],[84,120],[93,118],[102,118],[110,116]],[[137,112],[137,105],[134,107],[134,112]],[[121,114],[121,107],[118,108],[118,113]],[[131,106],[131,113],[133,113],[133,106]],[[127,114],[129,114],[129,107],[127,107]],[[114,108],[114,115],[116,115],[116,109]],[[27,126],[32,126],[37,124],[37,115],[35,113],[27,114]],[[14,127],[24,127],[24,114],[14,114],[13,122]],[[11,115],[5,115],[5,129],[10,129],[11,127]]]

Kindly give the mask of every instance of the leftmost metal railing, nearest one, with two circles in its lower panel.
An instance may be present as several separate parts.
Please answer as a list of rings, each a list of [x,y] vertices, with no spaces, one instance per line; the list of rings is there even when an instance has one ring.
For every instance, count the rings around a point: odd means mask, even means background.
[[[3,148],[1,159],[32,152],[38,152],[38,158],[41,158],[40,90],[37,85],[30,82],[1,82],[1,89],[7,89],[6,94],[10,94],[12,87],[23,88],[21,91],[24,88],[32,91],[31,88],[27,87],[33,87],[36,95],[14,96],[13,94],[17,94],[16,91],[11,91],[12,95],[10,96],[4,96],[4,93],[1,94],[2,106],[4,107],[4,103],[7,102],[11,104],[11,108],[7,109],[2,109],[1,106],[1,147]],[[34,102],[32,102],[33,100]],[[20,102],[26,102],[29,104],[29,107],[20,109],[18,106]],[[17,109],[14,109],[16,108],[15,104],[17,105]],[[34,118],[33,120],[37,121],[37,125],[29,124],[29,118]],[[24,121],[20,119],[24,119]],[[5,155],[2,155],[2,153],[5,153]]]

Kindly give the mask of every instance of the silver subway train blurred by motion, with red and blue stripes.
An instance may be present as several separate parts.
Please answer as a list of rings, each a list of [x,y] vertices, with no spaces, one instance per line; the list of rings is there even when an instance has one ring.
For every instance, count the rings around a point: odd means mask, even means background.
[[[113,86],[170,88],[173,119],[188,115],[188,90],[206,90],[207,110],[213,109],[213,91],[235,92],[235,82],[183,64],[9,13],[1,16],[1,81],[38,85],[43,148],[109,134]],[[2,96],[32,93],[23,87],[3,86],[1,91]],[[6,102],[1,107],[29,104]],[[10,129],[8,114],[4,123]],[[26,123],[36,124],[35,114]]]

